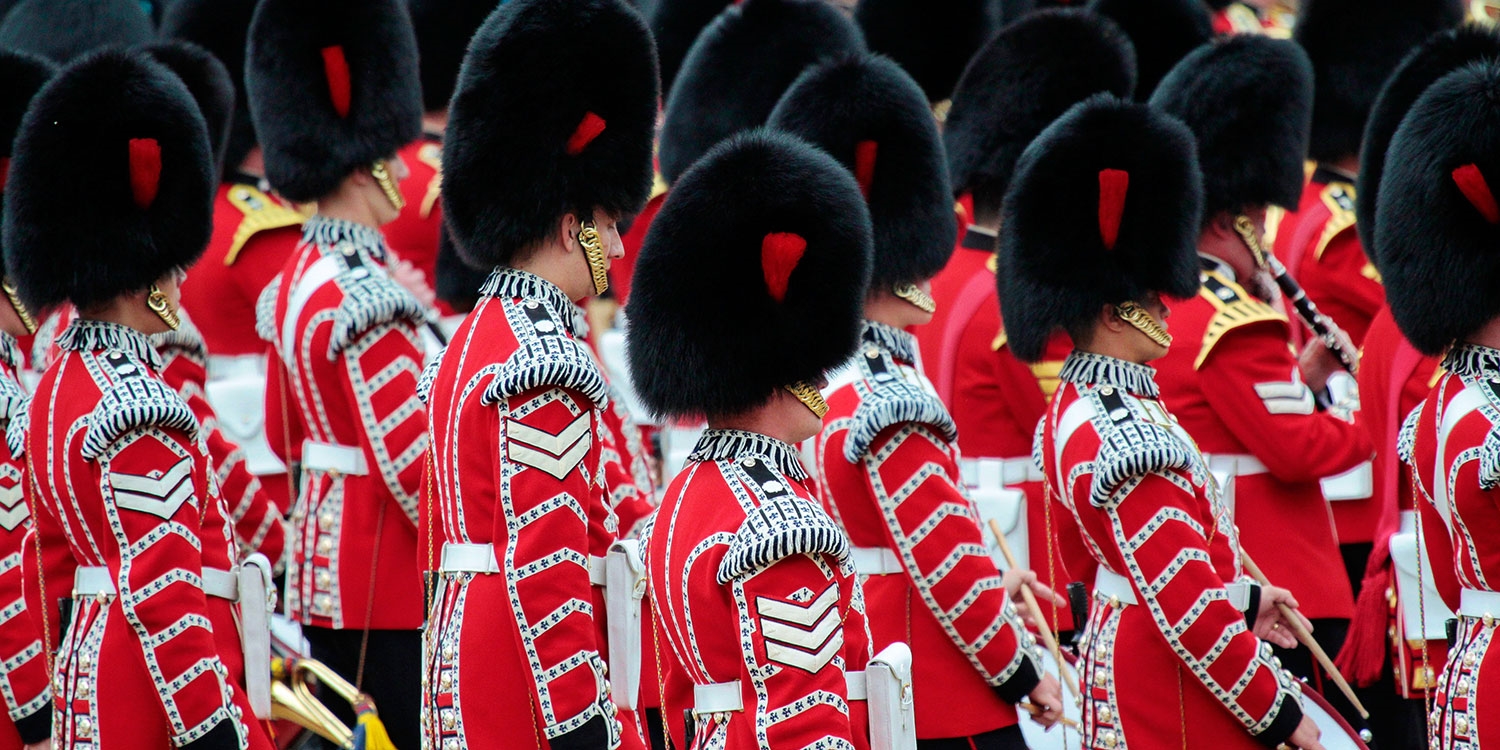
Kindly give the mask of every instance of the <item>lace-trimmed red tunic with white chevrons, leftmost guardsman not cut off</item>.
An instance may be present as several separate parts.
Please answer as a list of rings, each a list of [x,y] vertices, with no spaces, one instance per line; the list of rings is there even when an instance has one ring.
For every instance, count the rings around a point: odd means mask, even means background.
[[[192,410],[135,330],[75,321],[58,344],[26,440],[44,594],[75,591],[52,740],[268,748],[244,723],[238,608],[200,585],[204,570],[231,570],[236,549]],[[75,590],[84,568],[98,570],[98,596]]]

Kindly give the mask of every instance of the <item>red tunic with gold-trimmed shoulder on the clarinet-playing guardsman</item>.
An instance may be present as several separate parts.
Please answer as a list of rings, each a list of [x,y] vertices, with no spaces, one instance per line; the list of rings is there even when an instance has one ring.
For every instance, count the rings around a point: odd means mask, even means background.
[[[1353,422],[1317,411],[1287,346],[1284,315],[1227,272],[1204,272],[1197,297],[1173,300],[1172,350],[1156,362],[1161,399],[1234,477],[1240,542],[1310,618],[1350,618],[1353,591],[1318,480],[1370,460]]]

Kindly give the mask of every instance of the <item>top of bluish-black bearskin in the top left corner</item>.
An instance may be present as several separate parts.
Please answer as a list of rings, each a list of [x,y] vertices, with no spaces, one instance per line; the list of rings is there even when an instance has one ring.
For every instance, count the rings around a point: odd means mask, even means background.
[[[0,21],[0,48],[66,64],[100,46],[130,46],[154,36],[136,0],[21,0]]]

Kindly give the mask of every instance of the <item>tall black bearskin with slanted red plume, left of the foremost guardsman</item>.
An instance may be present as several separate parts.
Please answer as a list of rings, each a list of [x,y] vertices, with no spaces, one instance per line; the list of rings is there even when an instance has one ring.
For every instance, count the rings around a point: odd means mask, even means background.
[[[639,212],[657,96],[651,32],[624,0],[501,4],[474,34],[442,146],[442,216],[464,260],[508,264],[568,212]]]

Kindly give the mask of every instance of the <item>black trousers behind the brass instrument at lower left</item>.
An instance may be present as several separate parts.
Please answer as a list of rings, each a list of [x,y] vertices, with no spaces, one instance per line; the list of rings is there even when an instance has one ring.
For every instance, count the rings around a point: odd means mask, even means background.
[[[360,669],[363,630],[332,630],[303,626],[312,658],[354,682]],[[362,690],[375,699],[375,710],[400,750],[422,747],[422,632],[370,630]],[[354,729],[354,706],[327,693],[320,696],[340,722]]]

